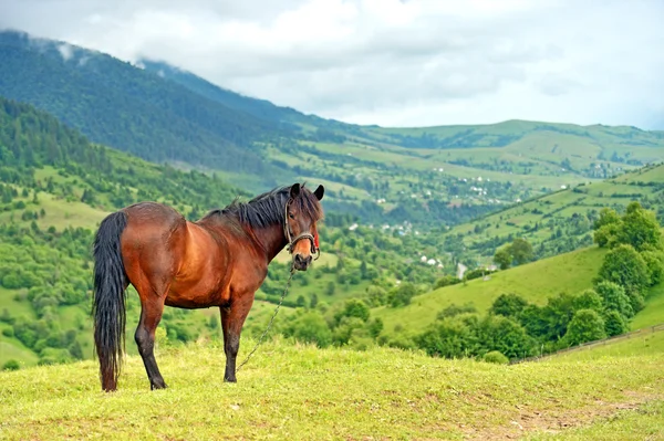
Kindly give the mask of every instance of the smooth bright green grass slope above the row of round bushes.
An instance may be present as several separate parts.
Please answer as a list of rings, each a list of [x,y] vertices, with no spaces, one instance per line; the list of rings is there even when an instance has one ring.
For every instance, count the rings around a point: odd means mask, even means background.
[[[488,281],[480,277],[466,285],[459,283],[415,296],[411,305],[403,308],[382,306],[372,309],[372,316],[381,317],[387,332],[398,324],[408,333],[416,333],[452,304],[471,303],[479,312],[485,312],[500,294],[513,293],[541,305],[559,293],[578,293],[591,287],[604,253],[605,250],[592,246],[543,259],[494,273]]]

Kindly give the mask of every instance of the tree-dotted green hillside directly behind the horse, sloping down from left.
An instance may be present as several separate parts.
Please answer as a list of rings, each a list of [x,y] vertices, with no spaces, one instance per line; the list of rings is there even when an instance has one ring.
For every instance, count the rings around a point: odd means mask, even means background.
[[[236,197],[251,196],[216,176],[157,166],[92,144],[49,114],[1,97],[0,159],[0,366],[91,357],[90,246],[108,212],[156,200],[196,220]],[[429,265],[416,273],[404,267],[418,249],[409,238],[378,229],[359,229],[350,237],[339,227],[344,217],[334,212],[326,212],[325,222],[319,230],[322,258],[312,272],[294,277],[286,309],[362,298],[370,284],[391,286],[396,277],[430,285],[442,274]],[[286,283],[288,259],[284,253],[270,265],[248,333],[264,329],[263,318]],[[132,290],[128,298],[132,328],[138,318]],[[168,309],[164,327],[173,342],[219,338],[218,311]],[[133,345],[128,349],[135,351]]]

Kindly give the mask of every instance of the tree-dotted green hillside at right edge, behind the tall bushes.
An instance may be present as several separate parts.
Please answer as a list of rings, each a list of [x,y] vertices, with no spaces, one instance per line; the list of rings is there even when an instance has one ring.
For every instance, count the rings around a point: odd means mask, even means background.
[[[579,185],[525,200],[471,222],[440,231],[450,251],[490,262],[497,246],[526,238],[536,255],[554,255],[592,243],[592,222],[602,208],[624,212],[637,200],[664,218],[664,165],[643,167],[604,181]]]

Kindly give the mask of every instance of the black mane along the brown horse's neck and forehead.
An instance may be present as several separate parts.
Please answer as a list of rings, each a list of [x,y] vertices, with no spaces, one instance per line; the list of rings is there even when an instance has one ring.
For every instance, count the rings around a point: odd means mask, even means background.
[[[232,202],[222,209],[214,209],[208,212],[200,222],[212,219],[232,219],[236,218],[240,223],[247,224],[252,229],[267,228],[274,224],[283,227],[286,217],[286,202],[290,198],[291,186],[277,187],[266,191],[251,199],[248,202],[240,202],[236,198]],[[323,210],[318,198],[311,190],[300,187],[300,193],[291,202],[297,204],[300,213],[308,216],[313,221],[323,217]]]

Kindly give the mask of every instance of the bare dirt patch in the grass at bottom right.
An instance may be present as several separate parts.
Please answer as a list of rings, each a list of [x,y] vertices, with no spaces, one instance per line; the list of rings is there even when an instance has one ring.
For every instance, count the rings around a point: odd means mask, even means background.
[[[625,392],[625,400],[605,402],[595,400],[579,409],[532,410],[517,406],[517,411],[507,424],[475,430],[461,428],[467,440],[517,440],[532,432],[557,433],[563,430],[589,426],[598,420],[611,418],[624,410],[637,410],[649,401],[664,399],[662,393]]]

